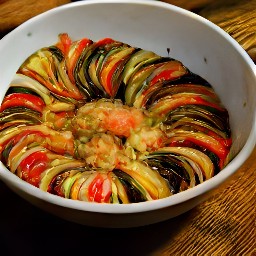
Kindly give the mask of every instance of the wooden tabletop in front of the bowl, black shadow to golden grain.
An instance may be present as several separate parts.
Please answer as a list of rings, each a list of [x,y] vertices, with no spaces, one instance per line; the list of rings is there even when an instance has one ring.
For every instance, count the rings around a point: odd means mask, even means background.
[[[131,229],[67,222],[34,207],[0,182],[0,254],[256,255],[255,170],[256,148],[236,175],[204,203],[168,221]]]

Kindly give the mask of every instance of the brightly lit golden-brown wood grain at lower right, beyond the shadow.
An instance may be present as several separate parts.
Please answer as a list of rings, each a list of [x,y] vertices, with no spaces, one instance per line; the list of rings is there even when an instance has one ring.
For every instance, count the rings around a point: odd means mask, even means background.
[[[255,184],[256,148],[228,185],[193,209],[159,255],[256,255]]]

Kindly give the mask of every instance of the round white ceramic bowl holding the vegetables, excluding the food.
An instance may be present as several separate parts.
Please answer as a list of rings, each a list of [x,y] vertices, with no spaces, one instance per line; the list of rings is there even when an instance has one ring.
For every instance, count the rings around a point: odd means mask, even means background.
[[[181,60],[206,78],[230,114],[235,158],[215,177],[171,197],[137,204],[63,199],[29,185],[0,165],[0,178],[21,197],[61,218],[98,227],[136,227],[182,214],[206,200],[251,154],[256,141],[256,68],[223,30],[202,17],[157,1],[81,1],[25,22],[0,41],[0,100],[20,64],[67,32],[72,39],[112,37]]]

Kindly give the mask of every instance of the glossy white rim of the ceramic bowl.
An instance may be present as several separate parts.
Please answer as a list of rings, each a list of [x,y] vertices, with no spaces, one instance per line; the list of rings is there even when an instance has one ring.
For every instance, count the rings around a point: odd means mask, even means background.
[[[62,12],[69,8],[73,8],[73,7],[79,8],[81,6],[102,4],[102,3],[104,4],[115,4],[115,3],[136,4],[136,5],[146,4],[146,5],[151,5],[155,7],[162,7],[165,9],[169,9],[172,12],[177,12],[182,15],[193,17],[198,22],[204,23],[206,26],[215,30],[222,37],[225,37],[225,39],[229,41],[230,44],[232,44],[232,46],[239,52],[243,60],[246,62],[246,64],[254,73],[255,81],[256,81],[256,67],[255,67],[256,65],[248,56],[248,54],[243,50],[243,48],[239,45],[239,43],[235,39],[233,39],[229,34],[227,34],[224,30],[222,30],[220,27],[218,27],[211,21],[203,18],[202,16],[199,16],[198,14],[192,13],[188,10],[174,6],[169,3],[158,2],[154,0],[129,0],[129,1],[128,0],[122,0],[122,1],[121,0],[86,0],[86,1],[67,3],[65,5],[55,7],[51,10],[48,10],[44,13],[34,16],[33,18],[24,22],[23,24],[15,28],[13,31],[5,35],[0,40],[0,45],[2,43],[5,43],[5,41],[8,41],[9,37],[11,37],[17,30],[26,28],[35,20],[44,19],[48,15],[54,15],[55,13]],[[202,184],[195,186],[194,188],[190,188],[186,191],[179,192],[167,198],[140,202],[140,203],[99,204],[99,203],[93,203],[93,202],[84,202],[84,201],[62,198],[62,197],[44,192],[38,189],[37,187],[34,187],[29,183],[21,180],[19,177],[17,177],[13,173],[11,173],[9,170],[7,170],[7,168],[2,164],[2,162],[0,162],[0,179],[2,179],[7,184],[7,186],[9,184],[10,187],[14,186],[15,188],[19,188],[23,192],[33,197],[39,198],[43,201],[49,202],[51,204],[59,205],[65,208],[71,208],[71,209],[87,211],[87,212],[95,212],[95,213],[97,212],[97,213],[110,213],[110,214],[128,214],[128,213],[135,214],[139,212],[154,211],[154,210],[159,210],[161,208],[182,204],[185,201],[188,201],[199,195],[205,194],[213,190],[214,188],[222,184],[223,181],[228,179],[232,174],[234,174],[242,166],[242,164],[246,161],[246,159],[252,153],[255,147],[255,144],[256,144],[256,110],[254,113],[254,121],[253,121],[249,138],[247,139],[245,145],[240,150],[240,152],[232,159],[231,162],[228,163],[228,165],[220,173],[218,173],[211,179],[204,181]]]

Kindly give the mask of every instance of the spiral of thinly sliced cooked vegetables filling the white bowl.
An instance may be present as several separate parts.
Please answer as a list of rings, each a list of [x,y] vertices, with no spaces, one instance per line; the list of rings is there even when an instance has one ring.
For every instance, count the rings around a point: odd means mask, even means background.
[[[184,191],[229,161],[228,112],[180,61],[105,38],[59,35],[16,72],[0,157],[49,193],[137,203]]]

